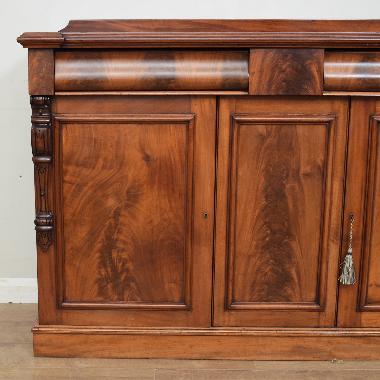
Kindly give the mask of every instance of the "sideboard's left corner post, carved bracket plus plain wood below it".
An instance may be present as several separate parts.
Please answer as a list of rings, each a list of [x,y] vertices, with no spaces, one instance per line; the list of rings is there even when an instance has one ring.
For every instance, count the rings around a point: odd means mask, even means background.
[[[49,96],[32,95],[31,141],[35,173],[35,230],[37,241],[38,312],[41,322],[59,319],[56,300],[55,198],[53,191],[54,150],[52,149],[51,103]],[[44,279],[42,281],[41,279]],[[57,317],[58,315],[58,317]]]

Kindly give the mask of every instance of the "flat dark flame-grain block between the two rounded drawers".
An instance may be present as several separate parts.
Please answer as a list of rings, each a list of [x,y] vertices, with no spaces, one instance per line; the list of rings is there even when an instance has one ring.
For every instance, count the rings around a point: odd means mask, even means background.
[[[249,94],[322,95],[323,49],[251,49]]]

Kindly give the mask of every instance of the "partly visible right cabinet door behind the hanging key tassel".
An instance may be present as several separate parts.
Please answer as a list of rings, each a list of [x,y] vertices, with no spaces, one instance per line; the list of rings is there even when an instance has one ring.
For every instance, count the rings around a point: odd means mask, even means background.
[[[380,99],[353,97],[342,258],[350,241],[355,285],[339,284],[338,327],[380,327]]]

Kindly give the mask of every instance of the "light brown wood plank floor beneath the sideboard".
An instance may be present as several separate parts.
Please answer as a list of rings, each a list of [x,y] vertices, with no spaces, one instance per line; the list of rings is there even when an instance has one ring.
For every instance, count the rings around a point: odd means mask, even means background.
[[[0,379],[380,379],[380,362],[35,358],[36,304],[0,304]],[[339,359],[339,358],[338,358]]]

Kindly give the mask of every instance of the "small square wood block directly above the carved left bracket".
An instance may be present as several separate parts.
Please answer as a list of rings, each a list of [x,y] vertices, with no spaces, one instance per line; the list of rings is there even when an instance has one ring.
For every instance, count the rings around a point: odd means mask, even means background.
[[[29,94],[54,95],[54,50],[29,49]]]

